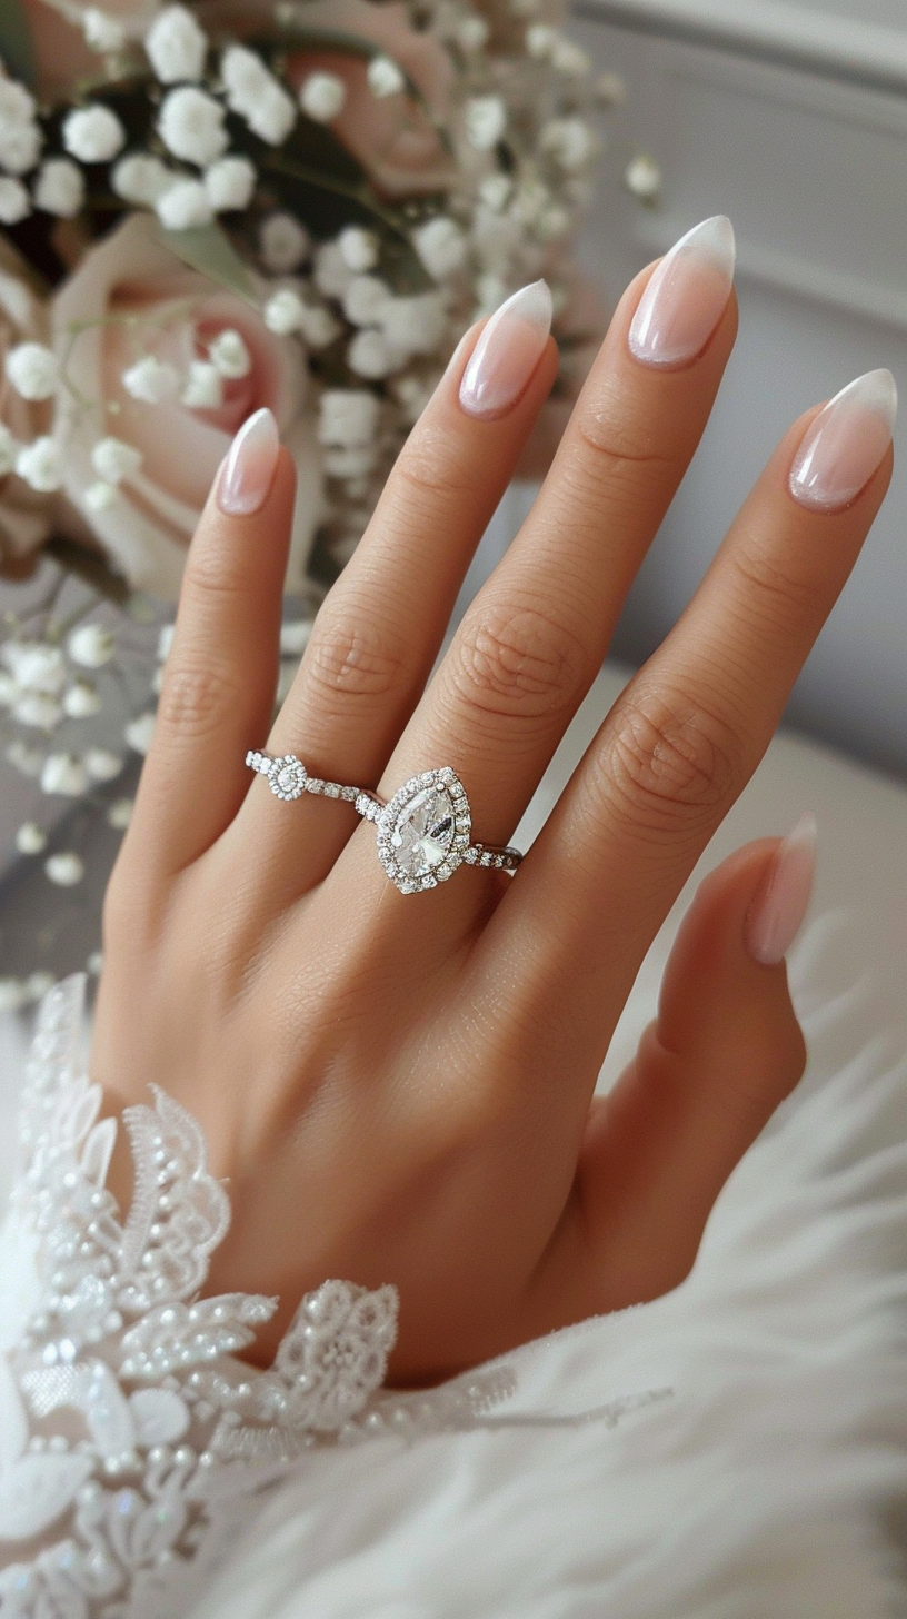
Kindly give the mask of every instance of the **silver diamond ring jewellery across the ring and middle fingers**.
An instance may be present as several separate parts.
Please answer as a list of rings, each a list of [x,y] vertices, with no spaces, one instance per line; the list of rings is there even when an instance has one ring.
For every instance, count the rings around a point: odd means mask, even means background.
[[[347,787],[309,776],[295,753],[274,758],[253,748],[246,753],[246,764],[267,779],[270,792],[283,803],[292,803],[303,793],[321,793],[326,798],[342,798],[353,805],[356,814],[373,821],[379,860],[400,894],[436,889],[454,876],[457,866],[513,873],[523,858],[510,845],[497,848],[492,843],[473,843],[466,790],[447,764],[439,771],[413,776],[389,803],[371,787]]]

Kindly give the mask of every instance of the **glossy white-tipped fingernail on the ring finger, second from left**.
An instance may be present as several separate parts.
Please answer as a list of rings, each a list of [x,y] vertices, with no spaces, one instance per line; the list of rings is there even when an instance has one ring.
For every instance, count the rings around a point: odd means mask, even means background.
[[[504,416],[536,369],[551,332],[551,288],[531,282],[492,314],[460,382],[466,416]]]

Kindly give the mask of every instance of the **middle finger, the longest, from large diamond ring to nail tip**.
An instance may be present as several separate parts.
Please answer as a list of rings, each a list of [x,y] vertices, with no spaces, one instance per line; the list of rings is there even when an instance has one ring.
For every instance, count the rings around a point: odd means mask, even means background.
[[[544,487],[466,612],[387,767],[452,766],[504,843],[594,678],[734,345],[734,233],[683,236],[624,295]]]

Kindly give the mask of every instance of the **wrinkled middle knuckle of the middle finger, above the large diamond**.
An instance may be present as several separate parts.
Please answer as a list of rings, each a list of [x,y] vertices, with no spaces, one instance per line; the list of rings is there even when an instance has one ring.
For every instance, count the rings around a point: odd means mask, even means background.
[[[471,712],[546,720],[568,706],[583,665],[580,641],[551,614],[499,604],[463,625],[454,682]]]

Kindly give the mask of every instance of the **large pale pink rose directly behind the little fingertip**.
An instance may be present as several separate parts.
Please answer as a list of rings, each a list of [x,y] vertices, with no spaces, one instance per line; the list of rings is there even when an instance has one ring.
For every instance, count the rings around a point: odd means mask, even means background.
[[[219,332],[243,338],[251,368],[225,380],[217,410],[180,403],[189,364],[207,359]],[[65,374],[53,436],[65,494],[104,550],[134,584],[175,597],[183,562],[214,474],[236,427],[267,405],[298,470],[287,588],[298,589],[322,513],[314,427],[303,411],[308,371],[295,338],[274,337],[259,312],[186,269],[149,215],[134,214],[92,248],[52,301],[52,343]],[[123,372],[151,356],[180,379],[160,403],[134,398]],[[107,436],[141,453],[141,466],[107,508],[91,455]]]

